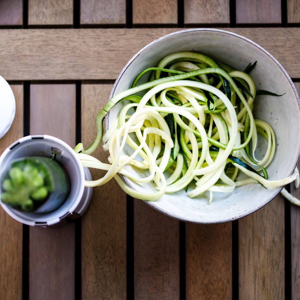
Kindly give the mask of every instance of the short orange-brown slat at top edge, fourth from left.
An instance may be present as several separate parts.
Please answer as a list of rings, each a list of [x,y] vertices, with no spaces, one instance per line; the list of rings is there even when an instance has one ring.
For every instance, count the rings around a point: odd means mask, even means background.
[[[177,0],[133,0],[134,24],[177,24]]]

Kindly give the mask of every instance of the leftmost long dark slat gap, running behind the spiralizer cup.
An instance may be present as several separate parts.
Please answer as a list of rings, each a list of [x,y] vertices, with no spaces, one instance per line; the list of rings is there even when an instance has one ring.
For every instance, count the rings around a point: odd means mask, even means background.
[[[30,82],[23,84],[23,135],[30,134]],[[23,224],[22,237],[22,300],[29,300],[29,226]]]

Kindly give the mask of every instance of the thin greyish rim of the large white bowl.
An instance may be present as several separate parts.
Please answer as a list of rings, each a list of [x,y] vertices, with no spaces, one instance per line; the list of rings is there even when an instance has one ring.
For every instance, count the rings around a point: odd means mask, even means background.
[[[229,32],[229,31],[226,31],[226,30],[223,30],[223,29],[214,29],[214,28],[191,28],[191,29],[184,29],[184,30],[179,30],[179,31],[176,31],[176,32],[172,32],[172,33],[169,33],[167,35],[164,35],[154,41],[152,41],[151,43],[149,43],[148,45],[146,45],[145,47],[143,47],[140,51],[138,51],[131,59],[130,61],[128,61],[128,63],[125,65],[125,67],[122,69],[122,71],[120,72],[119,76],[117,77],[114,85],[113,85],[113,88],[112,88],[112,91],[110,93],[110,97],[109,97],[109,100],[113,97],[115,91],[116,91],[116,87],[120,81],[120,79],[122,78],[125,70],[133,63],[134,60],[137,59],[137,57],[144,51],[146,50],[148,47],[152,46],[153,44],[155,44],[156,42],[160,41],[160,40],[163,40],[165,38],[168,38],[169,36],[173,36],[173,35],[178,35],[178,34],[182,34],[182,33],[185,33],[185,32],[193,32],[193,31],[204,31],[204,32],[219,32],[219,33],[223,33],[223,34],[227,34],[227,35],[232,35],[236,38],[240,38],[250,44],[252,44],[253,46],[255,46],[256,48],[260,49],[262,52],[264,52],[266,55],[268,55],[276,64],[277,66],[280,68],[280,70],[283,72],[283,74],[286,76],[286,78],[288,79],[293,91],[294,91],[294,94],[295,94],[295,97],[296,97],[296,100],[297,100],[297,103],[298,103],[298,108],[299,108],[299,111],[300,111],[300,99],[299,99],[299,96],[298,96],[298,93],[296,91],[296,88],[295,88],[295,85],[293,84],[292,82],[292,79],[289,77],[288,73],[286,72],[286,70],[282,67],[282,65],[279,63],[279,61],[277,61],[276,58],[274,58],[273,55],[271,55],[267,50],[265,50],[262,46],[259,46],[258,44],[256,44],[255,42],[251,41],[250,39],[248,38],[245,38],[244,36],[242,35],[239,35],[237,33],[234,33],[234,32]],[[109,121],[109,118],[110,118],[110,112],[107,113],[107,116],[105,117],[105,129],[107,131],[108,129],[108,121]],[[299,148],[298,148],[298,155],[297,155],[297,158],[294,162],[294,167],[292,168],[292,170],[290,171],[289,175],[292,175],[292,173],[294,172],[295,170],[295,167],[297,166],[297,162],[299,160],[299,157],[300,157],[300,145],[299,145]],[[123,176],[123,175],[120,175],[121,178],[123,179],[123,181],[128,185],[130,186],[131,188],[133,188],[134,190],[136,190],[134,188],[134,186],[129,182],[129,180]],[[184,221],[184,222],[190,222],[190,223],[197,223],[197,224],[216,224],[216,223],[225,223],[225,222],[229,222],[229,221],[233,221],[233,220],[237,220],[237,219],[240,219],[242,217],[246,217],[247,215],[249,214],[252,214],[253,212],[255,211],[258,211],[259,209],[261,209],[262,207],[264,207],[265,205],[267,205],[272,199],[274,199],[275,196],[277,196],[280,191],[283,189],[283,187],[279,187],[277,188],[276,190],[274,190],[274,193],[271,194],[271,196],[269,196],[264,202],[261,203],[261,205],[259,205],[258,207],[256,208],[253,208],[249,211],[244,211],[242,212],[241,214],[238,214],[238,215],[234,215],[232,216],[231,218],[229,219],[223,219],[223,220],[213,220],[213,221],[203,221],[203,220],[195,220],[195,219],[188,219],[188,218],[183,218],[183,217],[180,217],[180,216],[177,216],[175,214],[172,214],[168,211],[165,211],[164,209],[158,207],[155,205],[155,201],[147,201],[147,200],[142,200],[144,202],[146,202],[148,205],[150,205],[152,208],[160,211],[161,213],[163,214],[166,214],[167,216],[169,217],[173,217],[177,220],[181,220],[181,221]]]

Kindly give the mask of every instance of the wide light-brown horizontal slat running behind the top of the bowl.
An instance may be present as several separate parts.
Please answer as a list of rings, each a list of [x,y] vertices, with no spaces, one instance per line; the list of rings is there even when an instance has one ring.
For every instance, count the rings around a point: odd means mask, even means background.
[[[116,79],[128,60],[175,28],[1,30],[0,74],[9,80]],[[300,28],[230,28],[268,50],[300,78]],[[82,55],[84,53],[84,55]],[[7,59],[13,57],[14,59]]]

